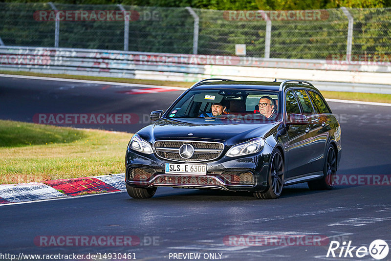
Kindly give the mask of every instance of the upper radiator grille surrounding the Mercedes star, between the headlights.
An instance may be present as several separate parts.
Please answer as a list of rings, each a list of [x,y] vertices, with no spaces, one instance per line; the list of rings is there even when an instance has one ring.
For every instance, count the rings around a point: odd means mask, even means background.
[[[180,146],[186,143],[194,148],[193,156],[188,159],[184,159],[179,155]],[[154,148],[156,154],[164,159],[180,162],[200,162],[218,158],[224,149],[224,144],[198,141],[156,141]]]

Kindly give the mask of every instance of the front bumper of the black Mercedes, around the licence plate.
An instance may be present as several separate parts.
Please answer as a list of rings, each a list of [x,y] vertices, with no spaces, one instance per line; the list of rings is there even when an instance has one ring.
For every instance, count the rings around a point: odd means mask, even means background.
[[[273,148],[265,144],[261,152],[231,158],[222,156],[207,164],[206,175],[166,174],[170,162],[128,149],[126,153],[126,184],[131,187],[207,188],[226,191],[260,192],[267,189],[267,174]],[[184,162],[186,163],[186,162]],[[191,164],[191,163],[189,163]]]

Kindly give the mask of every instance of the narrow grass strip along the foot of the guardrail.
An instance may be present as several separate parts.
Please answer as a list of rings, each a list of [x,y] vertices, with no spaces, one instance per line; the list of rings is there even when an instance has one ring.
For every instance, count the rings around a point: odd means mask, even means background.
[[[67,74],[45,74],[45,73],[23,72],[23,71],[0,71],[0,73],[1,74],[15,74],[15,75],[29,75],[29,76],[41,76],[41,77],[78,79],[78,80],[109,81],[109,82],[131,83],[131,84],[149,84],[149,85],[185,87],[185,88],[188,88],[193,84],[193,82],[140,80],[140,79],[113,78],[113,77],[67,75]],[[342,92],[342,91],[322,91],[322,94],[325,98],[330,98],[330,99],[391,103],[391,94]]]

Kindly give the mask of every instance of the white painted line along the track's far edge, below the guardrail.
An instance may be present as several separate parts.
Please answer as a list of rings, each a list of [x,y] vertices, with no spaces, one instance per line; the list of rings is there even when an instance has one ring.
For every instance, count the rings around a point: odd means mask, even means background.
[[[60,82],[72,82],[72,83],[86,83],[86,84],[107,84],[107,85],[128,86],[128,87],[162,88],[162,89],[177,89],[177,90],[186,90],[186,89],[188,89],[188,88],[185,88],[185,87],[170,87],[170,86],[147,85],[147,84],[128,84],[128,83],[116,83],[116,82],[106,82],[106,81],[77,80],[77,79],[40,77],[40,76],[26,76],[26,75],[13,75],[13,74],[0,74],[0,77],[32,79],[32,80],[60,81]],[[190,84],[191,83],[189,83],[189,85]],[[190,86],[189,86],[189,88],[190,88]],[[326,99],[326,101],[328,101],[328,102],[338,102],[338,103],[374,105],[374,106],[390,106],[391,107],[390,103],[375,103],[375,102],[350,101],[350,100],[338,100],[338,99]]]

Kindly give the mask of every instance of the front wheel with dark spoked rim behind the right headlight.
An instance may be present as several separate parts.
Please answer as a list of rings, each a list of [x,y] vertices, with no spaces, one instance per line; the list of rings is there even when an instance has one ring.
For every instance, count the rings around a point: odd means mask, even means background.
[[[259,199],[274,199],[281,195],[284,184],[284,161],[279,151],[274,152],[270,161],[268,174],[269,188],[264,192],[255,192],[254,196]]]

